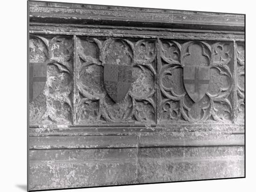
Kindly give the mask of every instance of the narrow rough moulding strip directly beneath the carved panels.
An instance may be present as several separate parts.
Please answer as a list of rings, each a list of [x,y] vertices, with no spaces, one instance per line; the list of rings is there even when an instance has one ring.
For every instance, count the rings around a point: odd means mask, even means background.
[[[243,124],[184,124],[161,127],[30,127],[30,136],[87,136],[87,135],[139,135],[147,133],[213,132],[223,134],[244,134]]]

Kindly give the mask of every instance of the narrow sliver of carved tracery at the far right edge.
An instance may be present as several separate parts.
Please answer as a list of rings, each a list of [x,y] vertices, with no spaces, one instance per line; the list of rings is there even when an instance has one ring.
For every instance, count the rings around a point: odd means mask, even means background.
[[[244,74],[244,44],[236,43],[236,61],[237,61],[237,102],[236,102],[236,122],[244,122],[244,89],[245,89],[245,74]]]

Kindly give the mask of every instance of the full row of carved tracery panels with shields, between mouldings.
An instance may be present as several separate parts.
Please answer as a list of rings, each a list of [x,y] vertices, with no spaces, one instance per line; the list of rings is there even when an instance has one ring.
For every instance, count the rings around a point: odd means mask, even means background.
[[[30,63],[45,64],[47,78],[30,102],[30,122],[231,123],[236,113],[232,58],[230,42],[31,36]],[[241,43],[236,60],[239,116],[244,109]],[[116,79],[118,89],[107,76]]]

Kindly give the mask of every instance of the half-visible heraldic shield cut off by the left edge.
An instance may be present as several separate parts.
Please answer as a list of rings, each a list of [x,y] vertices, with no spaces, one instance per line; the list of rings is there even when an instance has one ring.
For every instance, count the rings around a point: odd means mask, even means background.
[[[32,102],[43,91],[46,83],[46,63],[29,64],[29,102]]]

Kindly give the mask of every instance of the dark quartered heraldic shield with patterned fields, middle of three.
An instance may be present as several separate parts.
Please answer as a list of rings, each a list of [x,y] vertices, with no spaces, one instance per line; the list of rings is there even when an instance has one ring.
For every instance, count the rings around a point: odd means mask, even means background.
[[[132,66],[104,64],[104,86],[108,95],[115,101],[121,101],[132,84]]]

